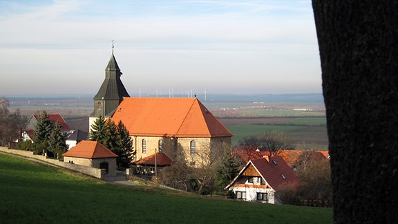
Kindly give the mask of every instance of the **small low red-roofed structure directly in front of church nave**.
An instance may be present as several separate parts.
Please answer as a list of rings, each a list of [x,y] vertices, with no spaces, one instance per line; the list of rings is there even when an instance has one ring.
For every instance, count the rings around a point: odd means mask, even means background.
[[[154,174],[155,169],[161,171],[163,167],[173,165],[173,161],[164,153],[153,153],[150,156],[133,162],[138,174]]]

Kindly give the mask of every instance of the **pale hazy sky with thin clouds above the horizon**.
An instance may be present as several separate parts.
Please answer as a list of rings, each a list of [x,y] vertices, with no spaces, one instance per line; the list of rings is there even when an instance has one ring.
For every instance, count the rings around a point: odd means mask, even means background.
[[[310,0],[0,0],[0,96],[321,93]]]

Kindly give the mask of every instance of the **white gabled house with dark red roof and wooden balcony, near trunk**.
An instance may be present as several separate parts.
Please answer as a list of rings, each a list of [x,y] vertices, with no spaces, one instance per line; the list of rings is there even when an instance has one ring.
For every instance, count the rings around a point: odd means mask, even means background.
[[[298,185],[299,179],[281,156],[264,156],[249,160],[225,189],[233,191],[236,199],[279,204],[278,190]]]

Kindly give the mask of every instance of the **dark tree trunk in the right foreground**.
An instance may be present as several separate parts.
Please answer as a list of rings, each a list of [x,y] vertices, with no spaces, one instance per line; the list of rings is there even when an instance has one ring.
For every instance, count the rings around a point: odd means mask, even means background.
[[[335,223],[398,221],[398,1],[313,0]]]

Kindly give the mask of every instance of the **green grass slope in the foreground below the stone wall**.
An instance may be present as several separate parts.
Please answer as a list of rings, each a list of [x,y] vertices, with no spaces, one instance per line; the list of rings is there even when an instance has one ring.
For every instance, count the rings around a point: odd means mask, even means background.
[[[112,185],[0,153],[0,223],[332,223],[332,209]]]

